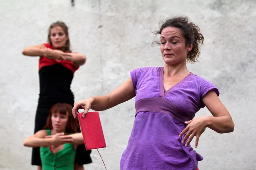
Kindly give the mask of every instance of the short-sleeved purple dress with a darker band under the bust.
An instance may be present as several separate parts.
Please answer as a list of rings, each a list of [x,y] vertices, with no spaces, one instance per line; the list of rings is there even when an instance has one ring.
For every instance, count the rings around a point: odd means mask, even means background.
[[[179,137],[204,107],[208,91],[218,89],[192,73],[168,91],[163,88],[163,67],[131,71],[135,89],[136,116],[128,145],[122,155],[121,170],[196,170],[202,156]]]

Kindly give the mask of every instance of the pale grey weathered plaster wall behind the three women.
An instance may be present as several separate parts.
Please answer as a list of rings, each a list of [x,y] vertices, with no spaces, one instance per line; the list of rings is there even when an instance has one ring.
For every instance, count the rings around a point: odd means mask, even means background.
[[[73,79],[75,99],[108,94],[144,66],[163,66],[160,48],[151,47],[159,21],[183,14],[205,37],[194,74],[212,81],[230,111],[235,131],[207,129],[196,149],[200,170],[255,170],[256,141],[256,1],[255,0],[0,0],[0,169],[30,170],[37,106],[38,57],[24,57],[24,47],[46,42],[47,28],[62,20],[70,28],[73,51],[87,63]],[[107,148],[100,149],[108,170],[118,170],[134,122],[134,99],[100,112]],[[204,108],[197,117],[210,115]],[[192,141],[194,146],[195,141]],[[93,150],[86,170],[103,170]]]

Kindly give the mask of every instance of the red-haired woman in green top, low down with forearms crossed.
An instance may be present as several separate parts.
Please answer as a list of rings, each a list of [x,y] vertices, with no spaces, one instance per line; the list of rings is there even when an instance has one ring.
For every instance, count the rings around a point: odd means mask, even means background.
[[[44,130],[39,130],[23,142],[26,147],[40,147],[43,170],[74,170],[76,147],[83,136],[76,133],[78,123],[72,116],[72,106],[57,103],[52,106]]]

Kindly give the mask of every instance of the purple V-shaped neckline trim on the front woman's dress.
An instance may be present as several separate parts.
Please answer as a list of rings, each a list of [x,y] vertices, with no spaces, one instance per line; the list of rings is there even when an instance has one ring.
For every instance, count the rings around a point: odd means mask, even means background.
[[[160,74],[159,75],[160,95],[163,96],[163,97],[168,95],[174,88],[176,88],[178,85],[182,84],[187,79],[189,79],[189,77],[194,75],[193,73],[190,72],[186,77],[184,77],[182,80],[180,80],[180,82],[177,82],[175,85],[173,85],[171,88],[169,88],[166,92],[164,92],[164,86],[163,86],[163,67],[160,69],[160,73],[159,74]]]

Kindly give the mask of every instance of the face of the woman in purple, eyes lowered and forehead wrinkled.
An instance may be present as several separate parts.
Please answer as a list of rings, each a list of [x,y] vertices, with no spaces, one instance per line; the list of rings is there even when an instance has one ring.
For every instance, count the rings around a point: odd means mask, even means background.
[[[168,65],[186,62],[187,54],[193,47],[193,44],[186,45],[186,40],[182,36],[180,28],[163,28],[160,42],[163,60]]]

